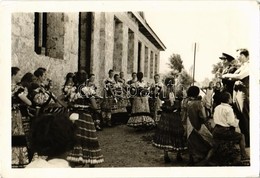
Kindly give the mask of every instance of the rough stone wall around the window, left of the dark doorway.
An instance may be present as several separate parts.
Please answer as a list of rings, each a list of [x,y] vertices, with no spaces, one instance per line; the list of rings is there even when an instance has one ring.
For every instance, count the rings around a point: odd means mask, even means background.
[[[53,54],[57,58],[38,55],[34,52],[34,13],[12,14],[12,66],[17,66],[21,72],[34,72],[38,67],[48,69],[48,77],[53,80],[54,91],[61,94],[64,77],[68,72],[78,68],[78,13],[52,13],[55,23],[60,25],[49,29],[49,34],[59,31],[62,40],[53,37],[52,48],[57,44],[63,47],[62,53]],[[54,21],[49,21],[49,23]],[[57,34],[57,32],[55,32]],[[59,40],[59,42],[55,41]],[[50,45],[49,44],[49,45]]]

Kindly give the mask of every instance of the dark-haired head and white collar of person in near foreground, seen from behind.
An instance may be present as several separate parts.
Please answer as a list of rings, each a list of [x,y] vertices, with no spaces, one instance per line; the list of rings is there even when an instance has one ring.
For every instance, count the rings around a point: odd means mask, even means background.
[[[70,168],[67,152],[76,143],[75,126],[65,114],[43,114],[32,128],[36,157],[26,168]]]

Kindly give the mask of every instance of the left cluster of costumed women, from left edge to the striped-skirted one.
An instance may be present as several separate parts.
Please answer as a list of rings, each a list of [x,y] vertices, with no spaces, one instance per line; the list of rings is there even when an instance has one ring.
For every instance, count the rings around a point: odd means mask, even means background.
[[[40,155],[42,151],[35,149],[38,147],[31,143],[31,133],[37,118],[47,113],[71,115],[70,119],[77,127],[77,142],[66,157],[71,166],[89,164],[93,167],[102,163],[104,158],[92,119],[98,109],[95,87],[91,81],[86,83],[86,74],[77,72],[67,75],[63,88],[64,100],[51,92],[52,85],[47,80],[45,68],[38,68],[34,74],[26,73],[20,78],[20,69],[12,67],[12,167],[25,167],[36,157],[46,156]]]

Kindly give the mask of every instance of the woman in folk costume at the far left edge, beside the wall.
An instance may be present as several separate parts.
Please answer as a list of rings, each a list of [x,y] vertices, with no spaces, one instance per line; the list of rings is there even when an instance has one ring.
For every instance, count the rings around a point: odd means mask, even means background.
[[[28,86],[18,84],[20,69],[12,67],[12,167],[23,168],[29,163],[29,145],[26,128],[28,116],[24,114],[26,107],[32,102],[27,98]],[[23,77],[24,78],[24,77]],[[28,129],[27,129],[28,131]],[[28,133],[28,132],[27,132]]]

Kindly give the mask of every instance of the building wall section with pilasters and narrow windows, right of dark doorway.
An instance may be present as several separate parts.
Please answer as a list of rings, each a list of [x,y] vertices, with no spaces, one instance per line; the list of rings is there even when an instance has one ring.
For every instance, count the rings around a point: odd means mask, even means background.
[[[144,77],[144,80],[148,82],[153,81],[153,75],[159,73],[160,51],[139,31],[138,22],[135,19],[124,12],[95,12],[93,13],[92,28],[92,59],[90,66],[91,72],[96,74],[98,88],[102,88],[102,82],[108,77],[110,69],[114,69],[115,73],[123,71],[127,80],[131,78],[132,72],[137,72],[139,42],[142,46],[141,72],[145,72],[145,66],[148,66],[149,72]],[[133,32],[130,34],[130,39],[132,40],[130,43],[129,29]],[[129,46],[131,49],[128,49]],[[148,49],[147,60],[145,60],[145,48]],[[152,58],[150,57],[150,51],[153,51]],[[129,59],[129,53],[130,56],[133,56],[132,59]],[[155,64],[155,54],[158,59],[157,64]],[[150,62],[151,59],[153,59],[153,62]],[[132,63],[129,63],[130,61]],[[150,63],[153,64],[153,67],[150,67]],[[157,71],[154,71],[155,69]]]

